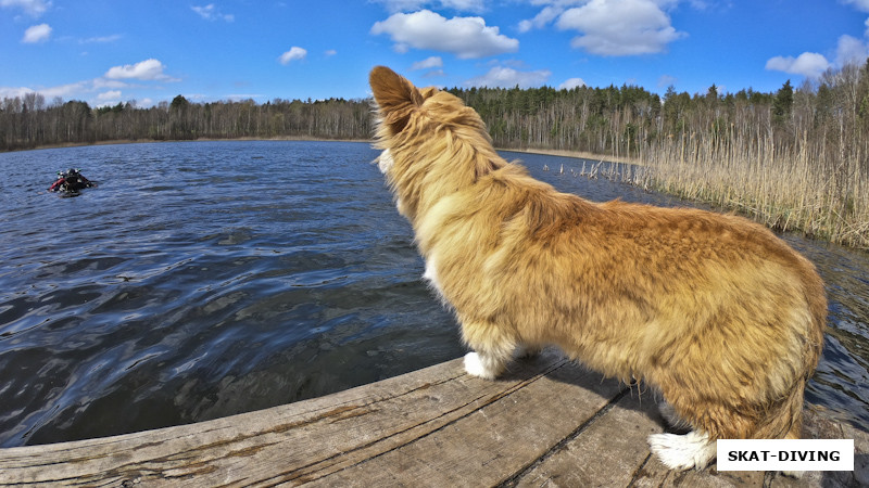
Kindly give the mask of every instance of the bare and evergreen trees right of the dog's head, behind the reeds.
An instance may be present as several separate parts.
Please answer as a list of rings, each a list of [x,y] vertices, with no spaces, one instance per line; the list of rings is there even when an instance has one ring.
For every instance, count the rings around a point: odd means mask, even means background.
[[[862,67],[831,69],[817,81],[794,88],[788,80],[774,92],[751,88],[719,93],[677,92],[664,97],[635,86],[450,90],[476,108],[495,145],[554,149],[640,158],[651,149],[685,134],[725,144],[730,136],[773,136],[779,146],[799,136],[864,144],[869,139],[869,61]],[[837,149],[835,150],[837,151]]]

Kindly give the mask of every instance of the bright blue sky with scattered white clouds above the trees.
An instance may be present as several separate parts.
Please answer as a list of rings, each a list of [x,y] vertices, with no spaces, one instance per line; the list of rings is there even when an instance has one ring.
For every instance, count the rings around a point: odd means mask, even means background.
[[[420,86],[774,91],[869,56],[869,0],[0,0],[0,99],[358,99]]]

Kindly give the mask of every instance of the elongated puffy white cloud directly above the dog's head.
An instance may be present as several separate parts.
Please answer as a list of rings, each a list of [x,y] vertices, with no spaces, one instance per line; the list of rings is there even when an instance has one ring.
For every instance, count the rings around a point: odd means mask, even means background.
[[[482,17],[453,17],[421,10],[412,14],[396,13],[377,22],[371,34],[388,34],[398,52],[410,48],[451,52],[459,59],[493,56],[516,52],[519,41],[499,33],[498,27],[486,25]]]

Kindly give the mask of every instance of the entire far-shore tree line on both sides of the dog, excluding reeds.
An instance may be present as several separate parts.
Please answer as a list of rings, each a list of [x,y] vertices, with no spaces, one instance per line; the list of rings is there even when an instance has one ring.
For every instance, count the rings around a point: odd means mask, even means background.
[[[677,92],[664,97],[635,86],[520,89],[453,88],[476,108],[495,145],[555,149],[642,157],[685,134],[726,144],[729,137],[757,142],[774,138],[779,147],[801,137],[824,142],[827,151],[853,151],[869,133],[869,61],[829,70],[817,81],[776,92],[743,89],[719,93]],[[0,103],[0,151],[115,140],[199,138],[368,139],[368,100],[253,100],[192,103],[181,95],[142,108],[136,102],[91,107],[86,102],[27,93]],[[847,143],[846,143],[847,142]]]

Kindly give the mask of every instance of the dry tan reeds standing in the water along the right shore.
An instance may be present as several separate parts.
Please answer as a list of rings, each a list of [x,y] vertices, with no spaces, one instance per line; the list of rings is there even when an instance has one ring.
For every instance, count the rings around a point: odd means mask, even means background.
[[[805,133],[774,141],[771,133],[671,138],[642,152],[629,182],[869,249],[867,145],[830,146]]]

